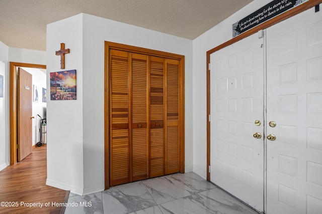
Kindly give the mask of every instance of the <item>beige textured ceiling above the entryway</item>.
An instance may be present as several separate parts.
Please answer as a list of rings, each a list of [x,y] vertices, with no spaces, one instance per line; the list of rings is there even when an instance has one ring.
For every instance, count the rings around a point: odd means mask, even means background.
[[[0,41],[46,50],[46,25],[86,13],[195,39],[253,0],[0,0]]]

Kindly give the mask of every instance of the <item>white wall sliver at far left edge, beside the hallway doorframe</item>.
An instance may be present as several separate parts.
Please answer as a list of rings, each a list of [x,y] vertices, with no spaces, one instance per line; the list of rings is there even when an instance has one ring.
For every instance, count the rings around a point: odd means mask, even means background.
[[[0,41],[0,75],[4,76],[4,97],[0,97],[0,171],[9,165],[7,68],[9,47]]]

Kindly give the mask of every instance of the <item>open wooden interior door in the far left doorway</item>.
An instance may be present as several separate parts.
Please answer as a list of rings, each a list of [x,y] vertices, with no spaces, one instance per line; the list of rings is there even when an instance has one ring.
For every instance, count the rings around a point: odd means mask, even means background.
[[[32,75],[18,68],[18,161],[32,152]]]

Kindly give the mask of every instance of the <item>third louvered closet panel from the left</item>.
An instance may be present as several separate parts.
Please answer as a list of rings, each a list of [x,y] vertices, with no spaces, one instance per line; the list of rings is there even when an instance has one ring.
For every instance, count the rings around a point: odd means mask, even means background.
[[[150,57],[150,177],[165,174],[164,61]]]

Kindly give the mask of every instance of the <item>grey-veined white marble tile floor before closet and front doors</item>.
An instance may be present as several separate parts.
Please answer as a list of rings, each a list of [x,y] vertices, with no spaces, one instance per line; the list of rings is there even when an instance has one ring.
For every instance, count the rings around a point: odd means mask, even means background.
[[[258,213],[193,172],[117,185],[85,196],[70,193],[68,203],[77,206],[67,206],[65,214]]]

